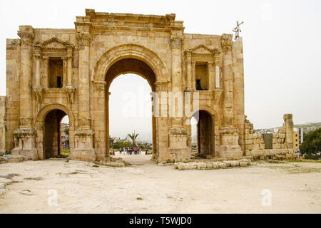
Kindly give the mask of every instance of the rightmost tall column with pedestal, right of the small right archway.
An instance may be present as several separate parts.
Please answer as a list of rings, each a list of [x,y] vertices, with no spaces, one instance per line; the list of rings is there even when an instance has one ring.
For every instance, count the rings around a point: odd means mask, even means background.
[[[232,34],[223,34],[220,40],[223,51],[223,126],[220,128],[219,157],[238,159],[243,152],[238,142],[240,131],[233,125],[232,39]]]

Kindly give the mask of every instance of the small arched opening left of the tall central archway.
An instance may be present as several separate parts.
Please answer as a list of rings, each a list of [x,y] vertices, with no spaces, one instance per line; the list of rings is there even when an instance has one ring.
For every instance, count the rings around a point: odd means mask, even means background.
[[[63,110],[51,110],[44,118],[44,159],[69,154],[69,118]]]

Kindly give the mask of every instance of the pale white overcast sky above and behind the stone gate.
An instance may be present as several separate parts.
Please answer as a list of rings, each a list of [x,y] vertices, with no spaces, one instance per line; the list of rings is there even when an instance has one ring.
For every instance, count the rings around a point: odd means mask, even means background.
[[[237,20],[245,22],[241,35],[245,114],[255,128],[282,125],[284,113],[292,113],[295,124],[321,122],[321,1],[0,1],[0,95],[6,93],[6,38],[18,38],[21,24],[74,28],[76,16],[85,15],[86,8],[113,13],[174,13],[177,20],[184,21],[185,33],[232,33]],[[128,81],[116,78],[111,90],[119,91],[123,83],[141,86],[143,79],[127,77]],[[148,89],[147,83],[144,88]],[[117,104],[123,95],[113,99]],[[110,115],[118,125],[111,128],[128,126],[116,111],[111,110]],[[128,120],[132,123],[128,129],[139,123],[148,135],[150,121],[141,119],[145,122]]]

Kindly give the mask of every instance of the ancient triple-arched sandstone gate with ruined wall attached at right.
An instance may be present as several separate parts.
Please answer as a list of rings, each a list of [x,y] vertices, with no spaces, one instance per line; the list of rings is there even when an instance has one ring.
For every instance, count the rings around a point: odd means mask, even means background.
[[[285,115],[272,148],[253,134],[245,118],[241,37],[184,33],[175,14],[86,9],[75,26],[19,26],[20,38],[7,39],[0,152],[33,160],[58,155],[59,123],[68,115],[71,159],[105,161],[108,110],[115,108],[108,106],[109,86],[120,74],[136,73],[154,92],[153,157],[158,162],[190,159],[193,115],[201,157],[235,160],[272,150],[293,154],[292,115]]]

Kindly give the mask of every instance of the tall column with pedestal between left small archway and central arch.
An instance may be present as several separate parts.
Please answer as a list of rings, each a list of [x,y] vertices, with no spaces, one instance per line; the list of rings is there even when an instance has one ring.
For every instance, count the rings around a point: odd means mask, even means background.
[[[93,130],[90,118],[89,92],[89,52],[91,43],[90,33],[77,33],[79,48],[78,65],[78,129],[75,130],[75,149],[71,154],[73,160],[95,161],[93,150]]]

